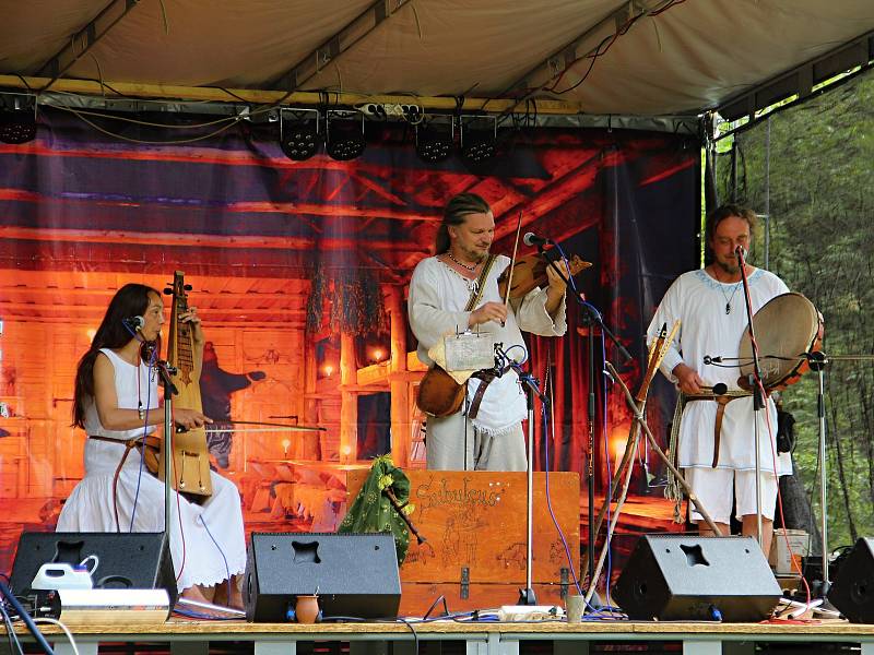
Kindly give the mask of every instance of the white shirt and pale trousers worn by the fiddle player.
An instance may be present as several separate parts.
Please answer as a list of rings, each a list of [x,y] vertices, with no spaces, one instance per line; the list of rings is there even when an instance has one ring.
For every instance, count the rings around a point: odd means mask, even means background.
[[[485,302],[504,302],[497,279],[509,263],[508,257],[495,258],[476,307]],[[436,257],[424,259],[416,265],[410,281],[408,313],[410,326],[418,340],[418,359],[423,364],[434,364],[428,350],[440,338],[468,327],[471,312],[464,311],[464,308],[473,282]],[[494,321],[480,325],[480,332],[493,333],[495,342],[501,343],[511,357],[520,349],[525,350],[521,330],[544,336],[563,335],[567,331],[565,299],[562,299],[553,320],[546,311],[546,289],[535,288],[521,301],[510,302],[503,326]],[[474,379],[468,383],[469,398],[479,383]],[[515,370],[488,385],[476,420],[466,419],[461,412],[463,409],[445,418],[428,418],[428,468],[525,469],[521,420],[527,415],[527,404]],[[470,440],[466,439],[468,433],[472,437]]]

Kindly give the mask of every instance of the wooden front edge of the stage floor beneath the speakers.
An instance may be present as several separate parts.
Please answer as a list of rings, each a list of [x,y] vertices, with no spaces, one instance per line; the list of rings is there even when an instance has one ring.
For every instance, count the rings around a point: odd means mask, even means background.
[[[40,626],[54,643],[57,655],[73,651],[55,626]],[[101,644],[167,644],[174,655],[208,655],[210,645],[237,644],[241,652],[255,655],[296,655],[312,642],[349,642],[352,655],[433,655],[445,642],[462,642],[465,655],[519,655],[538,642],[538,653],[587,655],[598,643],[675,644],[684,655],[732,655],[756,652],[756,644],[791,644],[805,653],[818,645],[861,646],[862,655],[874,655],[874,624],[846,621],[805,623],[705,623],[666,621],[602,620],[582,623],[494,622],[494,621],[409,621],[393,623],[247,623],[245,621],[182,621],[143,626],[71,627],[80,655],[95,655]],[[24,636],[24,629],[16,629]],[[5,646],[0,629],[0,644]],[[791,642],[791,644],[790,644]],[[243,644],[243,645],[240,645]],[[681,651],[682,645],[682,651]],[[0,650],[3,648],[0,646]],[[637,650],[637,648],[636,648]],[[642,650],[642,648],[640,648]],[[137,648],[132,648],[135,652]],[[853,648],[854,652],[860,652]],[[226,651],[225,651],[226,652]],[[458,652],[454,648],[453,652]],[[834,650],[832,650],[834,652]],[[849,651],[848,651],[849,652]]]

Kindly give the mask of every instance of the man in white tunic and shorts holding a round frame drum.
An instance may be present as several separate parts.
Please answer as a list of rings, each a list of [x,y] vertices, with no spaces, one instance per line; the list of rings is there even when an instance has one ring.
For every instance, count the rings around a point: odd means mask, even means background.
[[[753,397],[739,386],[737,361],[741,338],[747,327],[739,249],[748,250],[755,214],[733,204],[714,210],[707,217],[706,241],[712,262],[684,273],[664,295],[648,330],[648,342],[680,321],[661,370],[681,391],[684,404],[677,434],[677,464],[693,491],[720,527],[730,534],[730,515],[743,525],[743,534],[757,535],[755,479],[755,416],[758,416],[761,487],[761,548],[770,550],[777,475],[790,473],[787,456],[777,457],[775,437],[777,410],[767,401],[765,410],[754,413]],[[767,271],[746,264],[752,310],[755,313],[771,298],[786,294],[786,284]],[[786,325],[778,329],[787,329]],[[722,366],[706,365],[705,357],[721,357]],[[724,384],[721,395],[713,388]],[[721,390],[720,390],[721,391]],[[693,402],[695,401],[695,402]],[[699,534],[709,535],[702,517],[689,507]]]

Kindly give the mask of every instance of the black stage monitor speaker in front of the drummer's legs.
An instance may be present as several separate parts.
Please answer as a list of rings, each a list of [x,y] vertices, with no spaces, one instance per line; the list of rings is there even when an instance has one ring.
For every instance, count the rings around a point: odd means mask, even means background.
[[[759,621],[782,592],[752,537],[643,535],[613,597],[631,619]]]

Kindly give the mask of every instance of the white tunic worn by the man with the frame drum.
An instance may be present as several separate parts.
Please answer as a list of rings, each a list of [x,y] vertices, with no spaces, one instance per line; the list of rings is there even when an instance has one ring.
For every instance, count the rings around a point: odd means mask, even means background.
[[[788,293],[786,284],[767,271],[756,269],[749,275],[749,295],[753,314],[768,300]],[[725,313],[725,305],[731,312]],[[740,371],[736,367],[721,368],[705,365],[705,356],[732,358],[740,353],[741,337],[747,326],[741,283],[723,284],[710,277],[704,270],[690,271],[681,275],[664,295],[652,322],[647,330],[647,342],[651,343],[662,324],[668,324],[670,333],[676,320],[681,327],[671,348],[662,361],[661,370],[672,382],[676,378],[671,371],[685,364],[695,369],[707,385],[723,382],[730,390],[737,390]],[[771,329],[780,330],[775,325]],[[764,355],[764,353],[763,353]],[[728,360],[724,365],[736,365]],[[773,401],[767,403],[770,415],[770,434],[765,410],[759,415],[759,464],[763,472],[773,472],[775,437],[777,433],[777,410]],[[712,466],[713,427],[717,403],[694,401],[686,404],[680,425],[677,458],[681,467]],[[720,439],[719,468],[755,471],[755,421],[753,419],[753,398],[742,397],[725,405]],[[777,471],[781,475],[790,473],[791,464],[786,453],[778,457]]]

